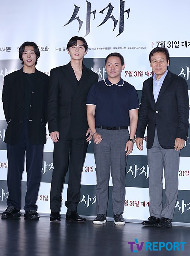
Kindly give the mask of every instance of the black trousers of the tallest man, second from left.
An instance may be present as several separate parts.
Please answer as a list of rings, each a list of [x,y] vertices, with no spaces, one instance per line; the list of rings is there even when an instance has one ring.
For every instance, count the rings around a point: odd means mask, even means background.
[[[53,174],[50,192],[51,211],[60,211],[61,193],[69,166],[69,182],[65,206],[76,210],[80,201],[80,180],[88,143],[85,139],[60,138],[54,143]]]

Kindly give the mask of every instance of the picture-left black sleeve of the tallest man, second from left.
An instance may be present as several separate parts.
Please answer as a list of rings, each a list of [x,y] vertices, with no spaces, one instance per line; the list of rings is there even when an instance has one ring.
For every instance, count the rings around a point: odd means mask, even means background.
[[[47,123],[49,133],[58,131],[58,89],[59,81],[56,71],[50,71],[49,94],[47,103]]]

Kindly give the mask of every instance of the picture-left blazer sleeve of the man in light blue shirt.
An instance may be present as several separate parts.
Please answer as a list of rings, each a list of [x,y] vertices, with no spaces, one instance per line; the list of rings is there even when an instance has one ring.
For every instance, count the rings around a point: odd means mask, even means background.
[[[148,124],[148,108],[147,108],[145,84],[143,83],[142,98],[141,98],[141,103],[140,103],[140,110],[138,113],[138,124],[137,124],[136,138],[144,137],[144,133],[145,133],[147,124]]]

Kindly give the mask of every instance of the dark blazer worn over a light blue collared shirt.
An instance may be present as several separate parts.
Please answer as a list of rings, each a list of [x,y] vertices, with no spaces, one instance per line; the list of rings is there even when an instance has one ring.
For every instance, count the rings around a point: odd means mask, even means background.
[[[168,71],[157,102],[153,96],[153,76],[143,83],[136,137],[143,138],[147,127],[147,148],[151,148],[155,127],[160,146],[174,148],[176,138],[187,140],[189,97],[185,79]]]

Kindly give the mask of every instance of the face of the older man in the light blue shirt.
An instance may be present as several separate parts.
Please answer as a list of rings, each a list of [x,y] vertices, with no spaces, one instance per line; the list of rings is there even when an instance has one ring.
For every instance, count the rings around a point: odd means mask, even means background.
[[[160,79],[169,66],[169,60],[166,60],[166,54],[163,52],[157,52],[152,55],[150,62],[152,71],[156,74],[156,79]]]

